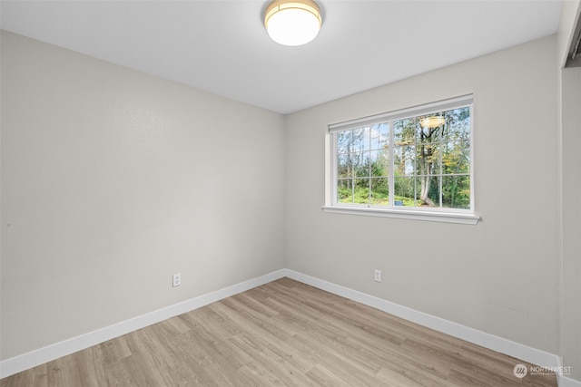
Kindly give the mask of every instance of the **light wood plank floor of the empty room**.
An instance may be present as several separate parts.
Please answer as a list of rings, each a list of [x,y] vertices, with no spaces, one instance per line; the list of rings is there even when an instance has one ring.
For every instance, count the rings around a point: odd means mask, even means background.
[[[531,364],[289,278],[0,381],[13,386],[556,386]],[[529,368],[530,369],[530,368]]]

